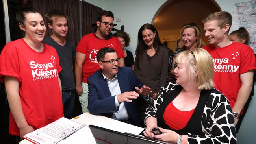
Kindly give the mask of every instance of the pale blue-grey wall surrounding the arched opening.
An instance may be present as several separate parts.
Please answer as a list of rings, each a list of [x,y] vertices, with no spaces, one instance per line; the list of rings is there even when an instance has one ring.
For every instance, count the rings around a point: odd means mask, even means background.
[[[85,0],[104,10],[112,11],[115,16],[114,23],[120,29],[124,25],[125,31],[131,37],[131,44],[128,47],[133,54],[137,46],[137,33],[139,28],[145,23],[151,23],[155,13],[167,0]],[[222,11],[232,12],[232,6],[237,2],[249,0],[215,0]],[[122,22],[116,22],[116,18],[121,17]],[[256,87],[254,87],[256,90]],[[252,97],[249,109],[243,120],[238,133],[237,143],[253,143],[256,136],[256,96]],[[252,142],[253,140],[253,142]],[[255,143],[255,142],[254,142]]]

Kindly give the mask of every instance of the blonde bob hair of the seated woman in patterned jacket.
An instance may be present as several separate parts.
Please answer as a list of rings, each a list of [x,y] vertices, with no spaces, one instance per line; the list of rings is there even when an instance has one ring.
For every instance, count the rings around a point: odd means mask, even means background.
[[[182,64],[182,59],[186,59],[187,68],[189,70],[190,80],[197,83],[197,89],[210,90],[214,87],[213,75],[214,65],[211,55],[201,48],[192,51],[180,52],[176,57],[177,64]],[[197,72],[197,76],[195,73]],[[193,79],[192,79],[193,78]]]

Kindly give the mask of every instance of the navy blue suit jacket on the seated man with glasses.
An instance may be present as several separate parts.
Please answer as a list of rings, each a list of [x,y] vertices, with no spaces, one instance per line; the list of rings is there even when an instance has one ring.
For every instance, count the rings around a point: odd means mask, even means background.
[[[121,93],[136,91],[135,87],[141,88],[143,86],[130,67],[119,67],[117,79]],[[113,113],[117,112],[115,96],[111,96],[108,83],[103,78],[101,69],[92,74],[87,81],[89,89],[88,109],[90,113],[111,118]],[[139,99],[144,98],[139,96],[139,98],[133,99],[132,102],[124,102],[127,113],[135,126],[143,126],[143,120],[140,118]]]

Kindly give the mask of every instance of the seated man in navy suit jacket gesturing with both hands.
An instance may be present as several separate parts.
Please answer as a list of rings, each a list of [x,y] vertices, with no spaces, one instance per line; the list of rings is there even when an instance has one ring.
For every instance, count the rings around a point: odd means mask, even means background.
[[[89,112],[143,126],[138,100],[148,100],[151,89],[143,86],[132,68],[119,68],[119,58],[112,48],[101,48],[97,61],[101,69],[88,78]]]

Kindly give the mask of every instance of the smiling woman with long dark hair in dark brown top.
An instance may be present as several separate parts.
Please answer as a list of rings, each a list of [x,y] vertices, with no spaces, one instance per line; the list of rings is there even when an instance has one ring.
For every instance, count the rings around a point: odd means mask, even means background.
[[[138,45],[135,51],[134,72],[137,78],[158,92],[166,83],[168,72],[168,51],[162,46],[156,28],[144,24],[138,32]]]

